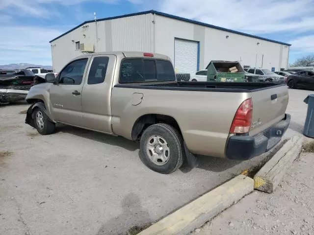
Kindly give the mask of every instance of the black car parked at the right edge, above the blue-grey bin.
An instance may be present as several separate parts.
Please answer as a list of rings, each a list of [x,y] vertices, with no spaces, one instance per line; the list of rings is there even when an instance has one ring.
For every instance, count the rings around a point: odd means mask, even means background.
[[[291,74],[287,78],[288,87],[314,89],[314,71],[304,70]]]

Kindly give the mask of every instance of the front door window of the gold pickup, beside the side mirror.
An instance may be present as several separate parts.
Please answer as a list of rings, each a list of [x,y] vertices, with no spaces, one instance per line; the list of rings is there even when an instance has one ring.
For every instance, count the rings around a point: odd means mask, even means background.
[[[68,64],[60,73],[60,84],[79,85],[82,82],[87,58],[76,60]]]

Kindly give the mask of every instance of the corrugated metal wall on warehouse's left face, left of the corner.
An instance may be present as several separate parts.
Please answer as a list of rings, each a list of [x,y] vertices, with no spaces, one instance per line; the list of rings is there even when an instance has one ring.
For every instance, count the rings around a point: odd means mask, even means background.
[[[75,42],[93,44],[101,51],[153,51],[153,15],[138,15],[121,19],[87,23],[56,39],[52,45],[52,66],[58,72],[73,58],[82,55]],[[72,42],[74,40],[74,42]]]

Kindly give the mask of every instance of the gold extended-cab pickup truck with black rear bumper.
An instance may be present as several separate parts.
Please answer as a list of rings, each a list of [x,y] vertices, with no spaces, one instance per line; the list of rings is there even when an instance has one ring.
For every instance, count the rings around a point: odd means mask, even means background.
[[[64,123],[140,141],[139,156],[168,174],[196,155],[248,160],[277,144],[290,122],[284,84],[177,82],[168,56],[79,56],[33,86],[26,123],[42,135]]]

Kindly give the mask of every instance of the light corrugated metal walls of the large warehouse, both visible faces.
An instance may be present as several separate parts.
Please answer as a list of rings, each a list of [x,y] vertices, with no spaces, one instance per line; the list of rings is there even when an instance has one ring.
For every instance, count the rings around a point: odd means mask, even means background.
[[[154,51],[154,25],[156,52],[168,55],[174,61],[174,39],[181,38],[200,42],[200,69],[204,69],[210,60],[238,60],[242,65],[257,66],[276,70],[287,68],[289,47],[281,44],[252,38],[237,33],[183,22],[177,19],[144,14],[125,18],[86,23],[70,33],[56,39],[52,45],[52,64],[59,71],[66,63],[81,55],[75,49],[75,42],[91,43],[95,51],[138,50]],[[88,27],[83,27],[88,25]],[[229,36],[228,39],[226,36]],[[72,42],[74,40],[74,42]],[[257,43],[260,43],[257,46]],[[281,55],[281,60],[280,60]],[[281,66],[280,66],[281,65]]]

